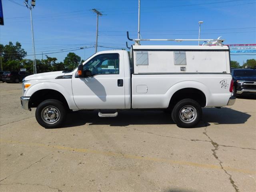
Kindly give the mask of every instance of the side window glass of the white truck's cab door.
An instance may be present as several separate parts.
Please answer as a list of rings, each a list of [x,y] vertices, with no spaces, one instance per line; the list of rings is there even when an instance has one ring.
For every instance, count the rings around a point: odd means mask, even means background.
[[[119,54],[100,54],[84,64],[84,70],[96,74],[119,74]]]

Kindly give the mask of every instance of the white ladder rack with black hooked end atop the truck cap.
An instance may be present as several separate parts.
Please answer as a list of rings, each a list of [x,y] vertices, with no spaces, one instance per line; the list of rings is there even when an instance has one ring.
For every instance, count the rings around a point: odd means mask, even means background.
[[[129,37],[129,32],[126,32],[127,38],[130,41],[134,41],[135,45],[140,45],[140,41],[176,41],[176,42],[182,42],[182,41],[204,41],[206,44],[204,45],[223,45],[222,42],[224,42],[224,39],[131,39]]]

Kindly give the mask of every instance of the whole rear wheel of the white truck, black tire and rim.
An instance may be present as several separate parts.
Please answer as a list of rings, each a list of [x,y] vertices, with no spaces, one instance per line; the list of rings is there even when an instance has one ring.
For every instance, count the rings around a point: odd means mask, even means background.
[[[194,127],[202,118],[202,108],[192,99],[180,100],[172,110],[172,120],[178,127]]]

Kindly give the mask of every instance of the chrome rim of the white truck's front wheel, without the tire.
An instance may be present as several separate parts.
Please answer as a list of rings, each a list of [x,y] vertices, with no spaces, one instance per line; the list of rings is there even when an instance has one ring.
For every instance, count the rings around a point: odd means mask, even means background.
[[[47,106],[42,110],[41,116],[47,124],[54,124],[60,120],[60,111],[54,106]]]

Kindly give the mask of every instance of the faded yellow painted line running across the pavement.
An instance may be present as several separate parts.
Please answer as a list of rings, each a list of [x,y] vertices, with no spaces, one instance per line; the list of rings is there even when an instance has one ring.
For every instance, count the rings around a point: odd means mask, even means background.
[[[187,161],[177,161],[177,160],[170,160],[164,158],[154,158],[154,157],[146,157],[146,156],[136,156],[132,154],[120,154],[115,152],[106,152],[100,150],[90,150],[85,148],[72,148],[72,147],[65,147],[65,146],[58,146],[58,145],[46,145],[41,143],[33,143],[33,142],[20,142],[20,141],[12,141],[12,140],[0,140],[0,143],[3,144],[20,144],[30,147],[44,147],[44,148],[55,148],[59,150],[67,150],[67,151],[75,151],[81,153],[88,153],[88,154],[101,154],[105,156],[114,156],[120,158],[127,158],[127,159],[134,159],[134,160],[146,160],[146,161],[153,161],[153,162],[161,162],[161,163],[168,163],[168,164],[178,164],[178,165],[185,165],[185,166],[194,166],[194,167],[201,167],[206,169],[220,169],[220,166],[212,165],[212,164],[200,164],[195,162],[187,162]],[[234,172],[241,172],[245,174],[256,174],[256,172],[251,170],[244,170],[244,169],[236,169],[232,167],[224,167],[225,170],[230,170]]]

